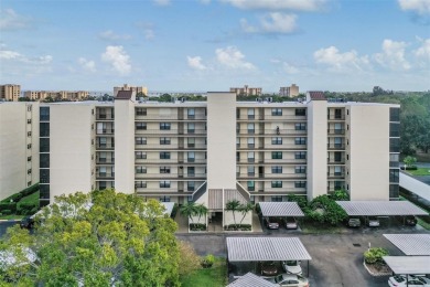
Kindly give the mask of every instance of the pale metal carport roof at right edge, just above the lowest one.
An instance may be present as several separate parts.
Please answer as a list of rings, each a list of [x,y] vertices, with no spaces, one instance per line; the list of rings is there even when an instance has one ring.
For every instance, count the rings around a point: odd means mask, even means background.
[[[430,256],[430,234],[384,234],[405,255]]]

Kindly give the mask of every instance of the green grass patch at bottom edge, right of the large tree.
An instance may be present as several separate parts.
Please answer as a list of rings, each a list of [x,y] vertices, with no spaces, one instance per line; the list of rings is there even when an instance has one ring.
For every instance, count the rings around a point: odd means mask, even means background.
[[[216,257],[211,268],[202,268],[181,278],[181,285],[186,287],[224,287],[227,284],[227,263],[222,257]]]

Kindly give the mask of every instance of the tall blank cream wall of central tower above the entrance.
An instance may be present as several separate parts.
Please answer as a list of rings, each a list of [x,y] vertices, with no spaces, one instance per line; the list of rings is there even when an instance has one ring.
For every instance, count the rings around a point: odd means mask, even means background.
[[[207,189],[236,189],[236,97],[207,96]]]

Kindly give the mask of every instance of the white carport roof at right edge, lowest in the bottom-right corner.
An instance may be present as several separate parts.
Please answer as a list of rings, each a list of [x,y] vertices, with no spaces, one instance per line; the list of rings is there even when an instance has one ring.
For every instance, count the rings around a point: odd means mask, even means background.
[[[430,274],[430,256],[384,256],[395,274]]]

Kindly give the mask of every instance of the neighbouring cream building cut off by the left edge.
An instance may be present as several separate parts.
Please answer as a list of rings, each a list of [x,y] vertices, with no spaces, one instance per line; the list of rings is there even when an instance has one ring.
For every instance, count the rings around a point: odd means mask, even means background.
[[[0,102],[0,200],[39,182],[39,103]]]

